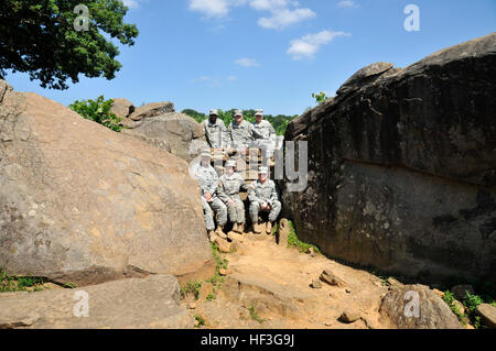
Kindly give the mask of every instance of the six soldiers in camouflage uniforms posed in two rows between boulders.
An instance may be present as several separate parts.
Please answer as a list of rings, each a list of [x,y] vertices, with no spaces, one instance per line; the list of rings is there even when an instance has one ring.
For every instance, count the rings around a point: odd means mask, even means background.
[[[263,120],[261,110],[257,110],[255,117],[256,121],[249,123],[244,120],[242,112],[236,110],[233,122],[226,129],[224,122],[218,119],[217,110],[211,110],[209,118],[202,123],[209,146],[214,150],[234,150],[241,155],[249,149],[259,149],[262,160],[270,160],[276,146],[276,131],[269,121]],[[228,220],[233,223],[234,232],[244,233],[245,205],[240,191],[248,191],[254,232],[271,233],[282,206],[276,183],[269,178],[269,167],[262,164],[258,168],[258,179],[249,184],[244,175],[236,172],[236,161],[228,160],[225,172],[219,177],[211,164],[211,150],[203,150],[200,164],[192,168],[202,190],[202,206],[209,240],[215,241],[216,235],[227,238],[224,229]],[[259,223],[260,211],[268,212],[268,221],[265,224]],[[216,229],[214,213],[217,215]]]

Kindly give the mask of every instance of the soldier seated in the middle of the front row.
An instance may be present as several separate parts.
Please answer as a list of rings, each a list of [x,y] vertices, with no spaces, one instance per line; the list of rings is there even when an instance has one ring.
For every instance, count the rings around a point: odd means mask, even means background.
[[[217,188],[218,197],[226,204],[229,220],[233,222],[233,231],[241,233],[245,231],[245,205],[239,191],[248,190],[248,184],[239,173],[236,173],[236,162],[229,160],[226,163],[226,174],[220,177]]]

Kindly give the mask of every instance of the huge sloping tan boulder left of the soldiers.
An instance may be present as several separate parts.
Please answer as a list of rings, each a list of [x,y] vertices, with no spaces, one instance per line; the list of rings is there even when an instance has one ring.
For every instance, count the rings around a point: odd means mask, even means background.
[[[207,278],[197,180],[179,157],[0,81],[0,266],[79,286]]]

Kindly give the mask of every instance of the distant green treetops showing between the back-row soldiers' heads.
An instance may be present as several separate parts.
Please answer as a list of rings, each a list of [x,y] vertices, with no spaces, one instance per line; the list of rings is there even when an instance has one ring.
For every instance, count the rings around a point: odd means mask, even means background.
[[[230,110],[227,110],[227,111],[224,111],[224,110],[219,109],[218,110],[218,118],[222,119],[224,121],[224,124],[226,124],[226,127],[227,127],[234,120],[235,111],[236,111],[236,109],[230,109]],[[204,121],[204,120],[206,120],[208,118],[207,114],[198,112],[198,111],[193,110],[193,109],[185,109],[182,112],[187,114],[187,116],[190,116],[190,117],[192,117],[192,118],[194,118],[198,123]],[[244,110],[242,111],[242,117],[248,122],[254,123],[255,122],[255,109]],[[276,133],[278,135],[284,135],[285,128],[296,117],[298,117],[298,114],[294,114],[294,116],[266,114],[263,118],[266,120],[268,120],[272,124],[272,127],[276,130]]]

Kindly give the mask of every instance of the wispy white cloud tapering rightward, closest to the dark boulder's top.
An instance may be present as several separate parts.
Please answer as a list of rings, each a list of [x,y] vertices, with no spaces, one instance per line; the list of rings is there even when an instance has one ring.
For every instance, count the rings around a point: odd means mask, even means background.
[[[316,34],[309,34],[296,40],[291,41],[291,46],[288,48],[288,54],[293,59],[313,58],[315,53],[322,45],[331,43],[337,36],[349,36],[352,34],[345,32],[322,31]]]

